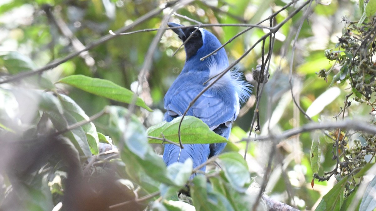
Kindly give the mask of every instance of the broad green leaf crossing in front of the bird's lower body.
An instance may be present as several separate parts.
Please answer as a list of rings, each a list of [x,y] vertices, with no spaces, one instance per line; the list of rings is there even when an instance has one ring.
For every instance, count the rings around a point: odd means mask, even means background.
[[[148,136],[163,138],[179,143],[178,128],[181,117],[171,122],[161,122],[147,129]],[[163,134],[163,135],[162,135]],[[194,116],[186,116],[180,128],[182,143],[224,143],[227,139],[210,130],[209,126]],[[149,143],[161,143],[149,138]]]

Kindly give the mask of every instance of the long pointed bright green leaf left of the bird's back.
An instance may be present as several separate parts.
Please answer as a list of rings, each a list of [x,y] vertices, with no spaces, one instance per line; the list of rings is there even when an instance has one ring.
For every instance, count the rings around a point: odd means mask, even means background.
[[[133,96],[135,95],[131,90],[121,87],[112,81],[100,78],[91,78],[85,75],[70,75],[62,78],[59,80],[59,82],[69,84],[94,95],[129,104],[132,103]],[[139,97],[136,98],[135,104],[139,107],[143,107],[149,112],[153,111]]]

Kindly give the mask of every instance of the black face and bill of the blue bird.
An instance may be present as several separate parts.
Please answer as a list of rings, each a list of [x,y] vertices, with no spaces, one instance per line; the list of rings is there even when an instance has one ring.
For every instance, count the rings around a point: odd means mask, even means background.
[[[179,27],[183,26],[177,23],[167,23],[169,27]],[[179,29],[172,29],[173,32],[175,32],[179,38],[185,42],[186,39],[189,38],[190,35],[191,38],[188,40],[188,42],[185,43],[185,53],[186,53],[186,60],[190,59],[190,57],[194,56],[197,51],[202,47],[203,40],[202,40],[202,34],[201,31],[197,27],[188,27],[188,28],[179,28]]]

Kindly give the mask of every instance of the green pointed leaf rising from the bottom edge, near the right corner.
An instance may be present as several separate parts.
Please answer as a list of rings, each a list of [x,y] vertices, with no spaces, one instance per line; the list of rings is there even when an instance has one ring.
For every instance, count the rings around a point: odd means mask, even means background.
[[[348,178],[349,176],[345,176],[341,181],[335,184],[327,194],[325,194],[323,199],[321,199],[320,203],[317,205],[316,211],[340,210],[343,203],[344,188],[347,184]]]

